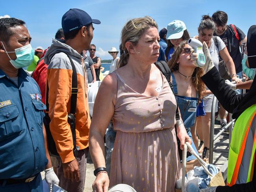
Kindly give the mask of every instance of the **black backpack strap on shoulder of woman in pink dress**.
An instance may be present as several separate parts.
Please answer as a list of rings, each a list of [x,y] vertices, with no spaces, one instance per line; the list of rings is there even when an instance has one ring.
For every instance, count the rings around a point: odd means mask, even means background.
[[[173,91],[173,83],[171,82],[171,69],[169,68],[169,66],[167,65],[167,63],[165,61],[157,61],[155,63],[155,65],[158,67],[158,69],[162,72],[162,74],[165,76],[165,78],[167,79],[171,90]],[[173,91],[174,94],[174,91]],[[174,94],[175,97],[175,94]],[[176,100],[176,97],[175,97]],[[176,100],[177,103],[177,100]],[[176,121],[180,120],[180,113],[179,113],[179,108],[178,108],[178,104],[176,107],[176,112],[175,112],[175,117],[176,117]]]

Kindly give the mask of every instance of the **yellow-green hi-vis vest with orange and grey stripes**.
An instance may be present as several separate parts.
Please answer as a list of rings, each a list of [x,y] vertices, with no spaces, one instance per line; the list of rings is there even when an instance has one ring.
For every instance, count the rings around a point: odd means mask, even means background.
[[[236,120],[228,154],[227,185],[252,181],[256,149],[256,104]]]

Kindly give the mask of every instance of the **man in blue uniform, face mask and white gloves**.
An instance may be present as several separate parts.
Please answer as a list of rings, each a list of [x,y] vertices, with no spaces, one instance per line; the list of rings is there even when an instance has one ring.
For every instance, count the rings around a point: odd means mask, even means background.
[[[22,69],[33,61],[25,22],[0,19],[0,191],[41,192],[40,172],[50,191],[58,185],[44,142],[41,93]]]

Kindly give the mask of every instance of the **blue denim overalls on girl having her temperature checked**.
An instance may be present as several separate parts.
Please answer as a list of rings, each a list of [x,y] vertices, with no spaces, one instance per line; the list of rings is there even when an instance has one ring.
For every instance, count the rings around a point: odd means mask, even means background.
[[[175,80],[175,77],[173,73],[171,74],[173,78],[173,92],[175,94],[178,107],[180,109],[181,117],[184,122],[184,127],[186,128],[187,135],[192,140],[192,147],[197,152],[197,148],[195,147],[195,144],[192,139],[190,127],[195,124],[196,114],[197,114],[197,100],[198,98],[193,97],[185,97],[185,96],[178,96],[178,89],[177,89],[177,83]],[[189,156],[187,156],[187,161],[191,161],[193,159],[196,159],[194,155],[190,153]]]

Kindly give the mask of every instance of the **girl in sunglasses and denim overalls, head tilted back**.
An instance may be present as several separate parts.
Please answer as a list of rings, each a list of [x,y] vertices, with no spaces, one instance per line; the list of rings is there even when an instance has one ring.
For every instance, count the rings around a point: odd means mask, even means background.
[[[173,90],[182,120],[187,134],[192,139],[190,127],[195,124],[198,101],[201,101],[203,98],[205,87],[203,81],[200,79],[204,70],[193,65],[191,57],[193,58],[193,54],[195,53],[192,53],[191,49],[187,41],[182,41],[176,47],[168,65],[172,71]],[[192,146],[197,151],[194,143],[192,143]],[[196,159],[194,155],[187,153],[187,161],[194,159]]]

